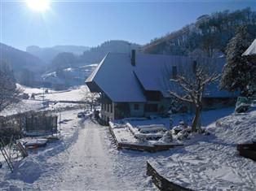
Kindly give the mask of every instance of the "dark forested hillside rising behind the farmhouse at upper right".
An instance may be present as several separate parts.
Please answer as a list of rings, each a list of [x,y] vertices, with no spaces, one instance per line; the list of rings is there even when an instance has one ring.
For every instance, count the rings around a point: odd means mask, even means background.
[[[234,36],[239,26],[245,26],[253,41],[256,34],[256,13],[246,8],[238,11],[214,12],[201,15],[196,22],[179,31],[157,38],[141,52],[148,54],[190,55],[195,50],[203,50],[212,57],[216,51],[224,53],[227,42]]]

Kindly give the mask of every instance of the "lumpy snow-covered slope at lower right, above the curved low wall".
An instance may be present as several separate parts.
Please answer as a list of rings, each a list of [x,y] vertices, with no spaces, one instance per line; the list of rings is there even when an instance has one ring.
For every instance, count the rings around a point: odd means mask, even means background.
[[[150,160],[152,167],[167,180],[193,190],[256,190],[256,162],[236,150],[238,143],[256,141],[255,107],[218,119],[207,129],[210,136],[193,134],[169,157]]]

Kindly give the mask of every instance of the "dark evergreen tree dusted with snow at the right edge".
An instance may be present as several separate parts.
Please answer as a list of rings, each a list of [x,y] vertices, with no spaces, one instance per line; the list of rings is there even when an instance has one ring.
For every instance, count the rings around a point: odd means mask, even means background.
[[[227,44],[227,63],[223,67],[219,88],[233,93],[241,90],[242,96],[255,92],[256,65],[242,54],[249,47],[251,37],[245,27],[241,27]]]

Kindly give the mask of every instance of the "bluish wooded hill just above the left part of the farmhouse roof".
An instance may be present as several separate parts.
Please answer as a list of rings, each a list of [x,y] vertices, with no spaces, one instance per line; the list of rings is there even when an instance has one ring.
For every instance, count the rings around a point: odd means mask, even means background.
[[[100,46],[85,51],[81,56],[81,61],[86,63],[99,63],[108,52],[130,53],[132,49],[139,50],[139,47],[139,44],[129,41],[105,41]]]

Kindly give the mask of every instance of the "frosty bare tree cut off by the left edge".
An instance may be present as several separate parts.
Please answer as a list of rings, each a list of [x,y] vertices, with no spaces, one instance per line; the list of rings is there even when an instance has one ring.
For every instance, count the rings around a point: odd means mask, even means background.
[[[0,113],[20,102],[22,89],[15,84],[15,76],[7,61],[0,60]]]

